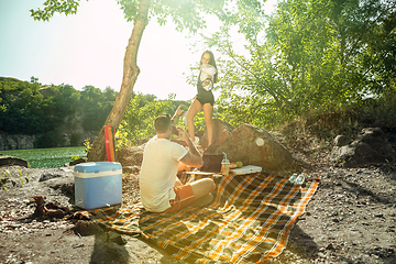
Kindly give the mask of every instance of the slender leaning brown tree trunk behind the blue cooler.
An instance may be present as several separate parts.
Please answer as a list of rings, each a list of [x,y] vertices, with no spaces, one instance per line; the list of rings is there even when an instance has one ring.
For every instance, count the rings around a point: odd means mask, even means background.
[[[110,114],[106,119],[105,125],[111,125],[117,129],[127,111],[128,103],[132,96],[133,86],[136,82],[138,75],[140,73],[140,68],[136,64],[136,57],[143,31],[148,23],[148,8],[150,0],[142,0],[139,4],[138,16],[134,21],[132,34],[129,38],[125,51],[121,89],[116,98],[116,102]],[[101,129],[88,153],[88,161],[101,162],[106,160],[105,131]]]

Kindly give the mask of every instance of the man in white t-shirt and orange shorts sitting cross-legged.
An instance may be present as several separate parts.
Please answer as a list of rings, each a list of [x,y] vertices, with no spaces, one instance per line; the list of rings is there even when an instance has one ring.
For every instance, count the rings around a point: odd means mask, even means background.
[[[216,185],[211,178],[204,178],[183,185],[177,177],[179,163],[190,167],[201,167],[202,157],[183,128],[176,128],[180,140],[188,145],[170,141],[173,122],[183,112],[179,108],[170,119],[163,113],[154,121],[156,135],[144,148],[140,174],[140,195],[144,208],[153,212],[173,212],[187,206],[200,206],[212,200],[210,191]]]

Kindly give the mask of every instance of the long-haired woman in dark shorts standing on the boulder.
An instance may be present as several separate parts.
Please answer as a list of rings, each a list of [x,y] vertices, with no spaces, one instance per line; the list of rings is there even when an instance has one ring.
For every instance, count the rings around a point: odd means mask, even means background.
[[[194,117],[204,109],[204,118],[208,132],[208,145],[212,143],[212,112],[215,97],[211,91],[213,84],[218,80],[218,70],[216,67],[213,53],[204,52],[199,62],[199,76],[197,82],[197,96],[187,112],[187,127],[190,139],[195,139]]]

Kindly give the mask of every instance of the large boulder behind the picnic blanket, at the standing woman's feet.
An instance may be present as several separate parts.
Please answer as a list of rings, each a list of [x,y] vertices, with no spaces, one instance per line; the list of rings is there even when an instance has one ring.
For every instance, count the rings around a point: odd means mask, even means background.
[[[264,172],[289,175],[296,170],[296,160],[290,152],[265,130],[242,124],[219,145],[210,145],[205,154],[227,153],[231,162],[261,166]]]

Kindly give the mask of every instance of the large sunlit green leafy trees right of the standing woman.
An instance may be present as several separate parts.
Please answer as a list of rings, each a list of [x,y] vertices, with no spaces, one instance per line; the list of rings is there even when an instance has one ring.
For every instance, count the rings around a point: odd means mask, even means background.
[[[230,58],[219,63],[221,117],[271,129],[382,96],[395,78],[395,14],[391,0],[285,0],[268,18],[238,7],[206,37]],[[233,51],[232,24],[248,54]]]

